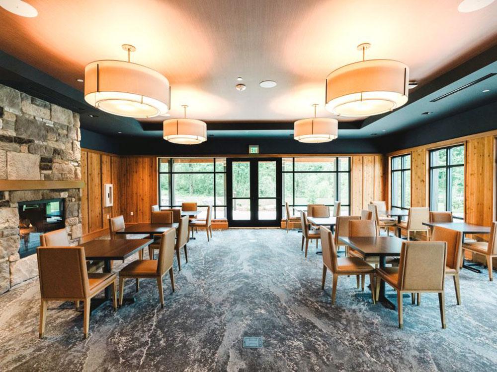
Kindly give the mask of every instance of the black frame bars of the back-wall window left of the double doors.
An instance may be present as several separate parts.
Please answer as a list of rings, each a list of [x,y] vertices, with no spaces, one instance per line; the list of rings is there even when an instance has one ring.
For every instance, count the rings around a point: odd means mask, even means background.
[[[189,159],[189,160],[194,160],[194,159],[206,159],[202,157],[192,157],[192,158],[166,158],[166,157],[159,157],[157,158],[157,172],[158,172],[158,177],[157,177],[157,182],[158,182],[158,204],[159,204],[159,209],[161,208],[181,208],[181,205],[173,204],[174,200],[174,175],[178,174],[208,174],[208,175],[213,175],[213,197],[214,197],[214,202],[212,203],[212,209],[213,209],[213,218],[217,218],[217,211],[216,208],[225,208],[225,217],[226,217],[226,212],[227,212],[227,202],[226,202],[226,158],[225,157],[213,157],[213,158],[207,158],[207,159],[212,159],[212,165],[213,165],[213,170],[212,171],[201,171],[201,172],[182,172],[182,171],[173,171],[173,164],[174,160],[180,160],[180,159]],[[161,171],[161,163],[164,164],[164,162],[161,162],[161,160],[167,159],[167,168],[168,171],[164,172]],[[225,160],[225,167],[224,171],[217,171],[216,170],[216,160]],[[216,176],[218,174],[224,174],[225,175],[225,195],[224,195],[224,203],[223,204],[217,204],[217,194],[216,194]],[[169,196],[169,204],[164,205],[161,204],[161,175],[168,175],[168,182],[169,182],[169,189],[168,189],[168,196]],[[197,205],[198,208],[206,208],[208,205]]]

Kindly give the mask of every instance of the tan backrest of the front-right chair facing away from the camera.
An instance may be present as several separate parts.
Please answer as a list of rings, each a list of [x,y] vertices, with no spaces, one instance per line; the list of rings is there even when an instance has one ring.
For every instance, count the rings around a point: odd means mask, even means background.
[[[447,243],[403,242],[398,287],[402,291],[443,291]]]

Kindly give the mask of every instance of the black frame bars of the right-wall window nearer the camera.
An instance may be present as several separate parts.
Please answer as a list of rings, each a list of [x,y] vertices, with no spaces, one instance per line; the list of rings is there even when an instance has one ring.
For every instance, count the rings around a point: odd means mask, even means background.
[[[464,156],[463,156],[463,163],[462,164],[449,164],[450,163],[450,158],[449,158],[449,151],[450,149],[452,148],[456,148],[456,147],[462,147],[463,148],[463,151],[464,151]],[[437,166],[432,166],[431,165],[431,158],[432,158],[432,153],[434,153],[435,151],[440,151],[440,150],[445,150],[445,165],[437,165]],[[463,168],[463,175],[465,175],[466,173],[466,146],[464,143],[458,143],[458,144],[455,144],[455,145],[450,145],[450,146],[446,146],[446,147],[439,147],[439,148],[434,148],[434,149],[430,149],[429,150],[429,154],[428,154],[428,174],[429,174],[429,206],[430,206],[430,210],[432,211],[435,211],[435,209],[433,208],[433,184],[432,184],[432,180],[433,180],[433,170],[436,170],[436,169],[445,169],[445,211],[447,212],[452,212],[452,209],[451,209],[451,205],[452,205],[452,184],[449,182],[449,180],[451,179],[451,171],[453,168],[459,168],[459,167],[462,167]],[[465,177],[465,176],[464,176]],[[463,197],[463,216],[462,217],[459,217],[459,216],[454,216],[454,214],[452,214],[452,217],[454,219],[458,219],[458,220],[463,220],[465,219],[465,216],[466,216],[466,211],[465,211],[465,200],[464,200],[464,197]]]

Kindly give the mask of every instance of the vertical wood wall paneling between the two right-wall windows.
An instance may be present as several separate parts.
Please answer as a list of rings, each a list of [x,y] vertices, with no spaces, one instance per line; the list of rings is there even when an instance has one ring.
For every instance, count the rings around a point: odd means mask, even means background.
[[[411,153],[411,206],[428,206],[428,151],[419,148]]]

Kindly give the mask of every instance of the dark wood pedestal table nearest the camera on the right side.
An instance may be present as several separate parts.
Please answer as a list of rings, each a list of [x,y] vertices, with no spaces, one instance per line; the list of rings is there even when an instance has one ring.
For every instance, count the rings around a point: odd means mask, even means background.
[[[404,242],[398,237],[340,237],[339,240],[365,257],[379,257],[380,268],[386,266],[387,257],[400,257]],[[386,308],[395,310],[395,305],[385,295],[385,281],[383,280],[380,284],[378,301]]]

